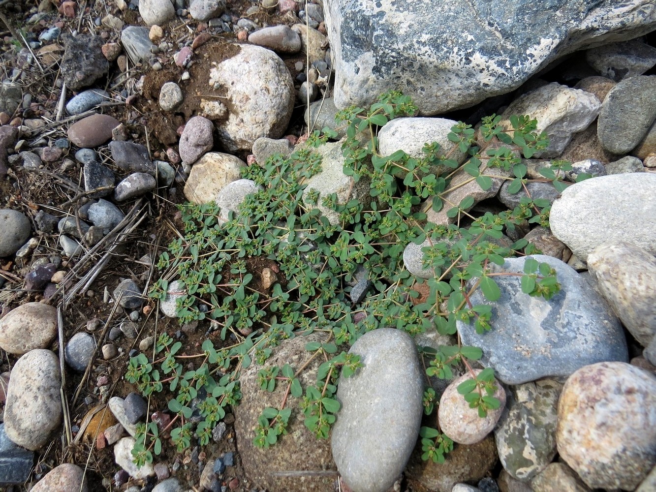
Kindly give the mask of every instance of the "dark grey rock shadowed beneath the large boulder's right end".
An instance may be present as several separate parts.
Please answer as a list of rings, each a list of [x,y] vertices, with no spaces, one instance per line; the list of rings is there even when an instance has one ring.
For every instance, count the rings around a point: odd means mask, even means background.
[[[656,65],[656,48],[631,39],[588,50],[585,60],[599,75],[619,82],[642,75]]]

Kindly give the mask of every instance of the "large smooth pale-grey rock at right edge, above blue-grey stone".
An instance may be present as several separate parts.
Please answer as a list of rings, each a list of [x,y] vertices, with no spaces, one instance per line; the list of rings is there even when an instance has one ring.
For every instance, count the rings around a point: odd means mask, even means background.
[[[551,230],[587,260],[605,242],[627,241],[656,254],[656,175],[612,174],[569,186],[554,201]]]

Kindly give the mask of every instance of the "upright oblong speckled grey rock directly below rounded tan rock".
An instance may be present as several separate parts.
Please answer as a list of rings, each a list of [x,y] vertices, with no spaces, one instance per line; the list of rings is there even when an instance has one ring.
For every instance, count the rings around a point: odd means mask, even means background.
[[[51,350],[30,350],[11,371],[5,406],[5,432],[31,451],[51,442],[62,423],[59,359]]]

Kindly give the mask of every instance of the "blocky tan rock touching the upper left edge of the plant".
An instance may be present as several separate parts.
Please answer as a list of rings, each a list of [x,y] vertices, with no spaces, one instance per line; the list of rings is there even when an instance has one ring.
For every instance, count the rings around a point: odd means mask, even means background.
[[[226,184],[241,178],[241,168],[246,163],[230,154],[208,152],[192,166],[192,172],[184,185],[184,196],[194,203],[208,203]]]

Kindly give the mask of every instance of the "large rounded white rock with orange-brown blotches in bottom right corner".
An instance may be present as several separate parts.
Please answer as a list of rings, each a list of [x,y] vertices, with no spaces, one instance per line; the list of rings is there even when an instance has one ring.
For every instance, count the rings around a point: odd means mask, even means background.
[[[556,442],[589,487],[635,489],[656,464],[656,377],[622,362],[582,367],[560,396]]]

